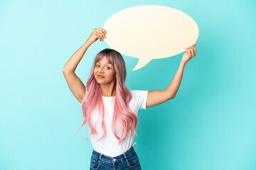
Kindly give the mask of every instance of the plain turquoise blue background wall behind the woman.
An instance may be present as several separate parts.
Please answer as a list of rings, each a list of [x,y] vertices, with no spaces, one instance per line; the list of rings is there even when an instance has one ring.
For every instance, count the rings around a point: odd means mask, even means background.
[[[134,146],[142,169],[256,169],[255,1],[0,1],[0,169],[89,169],[92,145],[82,108],[63,76],[65,62],[124,8],[176,8],[198,24],[197,54],[176,98],[139,110]],[[168,31],[168,30],[166,30]],[[76,74],[84,84],[97,40]],[[125,56],[129,90],[164,90],[183,53]]]

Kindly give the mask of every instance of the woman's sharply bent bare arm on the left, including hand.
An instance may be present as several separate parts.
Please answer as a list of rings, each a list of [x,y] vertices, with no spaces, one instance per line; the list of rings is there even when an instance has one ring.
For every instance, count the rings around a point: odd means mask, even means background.
[[[100,41],[103,42],[105,37],[105,30],[103,28],[95,28],[92,30],[92,33],[88,40],[85,42],[82,47],[80,47],[68,60],[68,62],[63,67],[63,74],[65,80],[68,83],[68,87],[72,94],[77,98],[79,103],[82,103],[82,99],[85,96],[85,85],[75,74],[75,69],[78,67],[79,62],[82,60],[82,57],[85,55],[87,48],[92,45],[93,42],[100,38]]]

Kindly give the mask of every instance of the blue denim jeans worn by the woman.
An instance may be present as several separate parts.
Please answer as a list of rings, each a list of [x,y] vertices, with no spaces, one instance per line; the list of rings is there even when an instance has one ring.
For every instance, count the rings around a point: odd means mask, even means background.
[[[116,157],[108,157],[105,154],[100,154],[94,149],[92,151],[92,157],[90,161],[90,170],[95,169],[112,169],[112,170],[125,170],[125,169],[134,169],[141,170],[139,164],[139,157],[134,151],[134,148],[131,147],[124,154],[120,154]]]

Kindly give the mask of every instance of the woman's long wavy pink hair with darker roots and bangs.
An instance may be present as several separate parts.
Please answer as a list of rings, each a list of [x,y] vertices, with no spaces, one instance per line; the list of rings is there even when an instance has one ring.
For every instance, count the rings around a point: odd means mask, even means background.
[[[127,133],[132,128],[132,135],[137,135],[136,128],[137,128],[137,115],[129,108],[129,101],[132,99],[132,95],[127,89],[127,87],[124,84],[124,81],[126,79],[126,67],[124,63],[124,59],[122,55],[117,52],[116,50],[112,50],[109,48],[105,48],[104,50],[100,51],[96,56],[95,60],[92,64],[92,70],[90,72],[90,77],[87,80],[87,91],[85,94],[85,98],[82,102],[82,125],[80,128],[82,128],[85,123],[90,128],[90,134],[89,137],[87,137],[87,140],[91,137],[91,135],[95,134],[96,129],[94,123],[92,123],[92,114],[93,111],[98,108],[99,116],[97,118],[97,121],[101,118],[102,120],[102,130],[103,135],[99,140],[102,140],[102,138],[105,136],[105,122],[104,122],[104,115],[105,115],[105,109],[104,109],[104,103],[102,99],[102,90],[100,88],[100,84],[97,83],[95,76],[94,76],[94,69],[97,61],[100,61],[102,57],[106,56],[107,62],[110,62],[114,66],[114,70],[116,72],[116,80],[115,80],[115,88],[116,88],[116,96],[114,98],[114,113],[112,117],[112,132],[114,136],[118,140],[118,145],[124,138],[127,136]],[[95,112],[97,113],[97,112]],[[96,123],[97,123],[96,121]],[[121,128],[122,130],[122,136],[117,136],[117,133],[115,132],[116,125]],[[78,128],[78,130],[80,130]],[[77,130],[77,132],[78,132]],[[86,140],[86,141],[87,141]],[[97,140],[97,141],[99,141]]]

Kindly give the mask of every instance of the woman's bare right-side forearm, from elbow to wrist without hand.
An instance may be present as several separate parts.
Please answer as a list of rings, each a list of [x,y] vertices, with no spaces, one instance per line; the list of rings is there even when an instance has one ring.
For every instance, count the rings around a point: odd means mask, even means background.
[[[171,80],[171,83],[166,88],[166,92],[170,95],[170,98],[174,98],[177,94],[178,88],[181,84],[185,65],[186,63],[181,62],[176,74],[174,75],[174,78]]]

